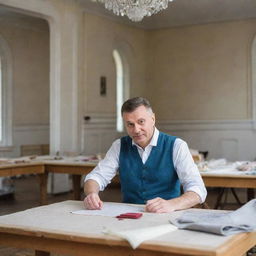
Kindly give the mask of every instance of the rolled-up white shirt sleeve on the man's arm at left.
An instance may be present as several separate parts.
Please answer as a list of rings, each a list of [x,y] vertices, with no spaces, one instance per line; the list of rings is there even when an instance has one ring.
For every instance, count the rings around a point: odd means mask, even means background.
[[[84,182],[87,180],[94,180],[99,184],[100,191],[103,191],[117,173],[119,167],[119,154],[120,139],[113,142],[104,159],[102,159],[98,165],[86,175]]]

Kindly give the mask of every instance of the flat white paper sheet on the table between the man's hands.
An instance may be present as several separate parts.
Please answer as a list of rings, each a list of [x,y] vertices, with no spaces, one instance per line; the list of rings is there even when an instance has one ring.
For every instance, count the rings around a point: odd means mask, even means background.
[[[99,216],[115,217],[122,213],[143,212],[143,211],[144,211],[144,208],[140,206],[107,203],[107,204],[103,204],[103,207],[101,210],[79,210],[79,211],[73,211],[72,213],[82,214],[82,215],[99,215]]]

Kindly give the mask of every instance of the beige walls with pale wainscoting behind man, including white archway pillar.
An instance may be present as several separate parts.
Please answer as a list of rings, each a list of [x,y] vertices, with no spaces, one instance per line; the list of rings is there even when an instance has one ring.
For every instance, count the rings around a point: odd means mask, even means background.
[[[209,150],[210,157],[254,159],[255,19],[145,31],[84,13],[73,1],[0,3],[50,24],[52,152],[104,152],[120,135],[112,58],[119,47],[131,67],[130,96],[149,98],[161,130]],[[101,75],[106,97],[99,95]],[[85,123],[85,115],[91,121]]]

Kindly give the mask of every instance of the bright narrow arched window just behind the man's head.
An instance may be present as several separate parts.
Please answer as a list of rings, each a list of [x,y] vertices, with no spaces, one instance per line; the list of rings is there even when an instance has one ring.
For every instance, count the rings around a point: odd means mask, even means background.
[[[116,65],[116,129],[118,132],[124,131],[123,120],[121,116],[121,107],[124,103],[124,67],[121,56],[117,50],[113,51],[113,58]]]

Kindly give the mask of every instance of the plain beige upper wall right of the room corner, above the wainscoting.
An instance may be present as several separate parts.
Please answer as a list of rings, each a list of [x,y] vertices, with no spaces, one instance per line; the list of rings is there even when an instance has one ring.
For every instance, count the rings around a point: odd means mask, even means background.
[[[148,95],[158,118],[251,119],[255,34],[256,19],[151,32]]]

